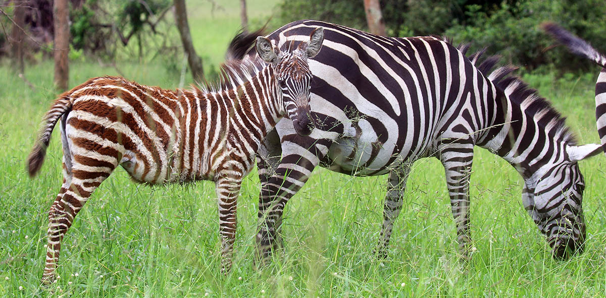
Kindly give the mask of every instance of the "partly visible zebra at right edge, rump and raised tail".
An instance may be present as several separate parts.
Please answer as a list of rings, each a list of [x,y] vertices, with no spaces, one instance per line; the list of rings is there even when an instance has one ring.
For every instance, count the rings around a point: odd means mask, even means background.
[[[542,24],[543,30],[553,38],[565,45],[572,53],[593,61],[602,67],[596,82],[596,124],[602,143],[602,150],[606,153],[606,56],[578,36],[551,22]]]

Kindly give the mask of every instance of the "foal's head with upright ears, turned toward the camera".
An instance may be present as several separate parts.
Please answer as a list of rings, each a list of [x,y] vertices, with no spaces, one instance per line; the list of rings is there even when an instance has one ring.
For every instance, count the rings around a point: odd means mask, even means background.
[[[282,98],[285,113],[302,136],[311,134],[314,127],[309,107],[311,71],[307,59],[318,54],[322,41],[324,28],[318,27],[311,32],[308,42],[301,42],[293,50],[280,51],[262,36],[256,42],[259,57],[273,66],[278,97]]]

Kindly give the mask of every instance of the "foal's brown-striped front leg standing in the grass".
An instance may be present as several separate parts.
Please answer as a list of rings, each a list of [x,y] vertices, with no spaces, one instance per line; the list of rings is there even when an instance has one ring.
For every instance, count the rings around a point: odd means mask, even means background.
[[[216,180],[215,191],[219,198],[219,235],[221,236],[221,272],[227,274],[231,269],[233,243],[236,240],[238,220],[236,207],[242,184],[242,175],[230,172],[222,174]]]

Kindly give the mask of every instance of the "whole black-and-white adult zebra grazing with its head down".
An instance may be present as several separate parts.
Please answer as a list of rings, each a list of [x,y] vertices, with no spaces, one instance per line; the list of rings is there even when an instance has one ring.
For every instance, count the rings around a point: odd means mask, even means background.
[[[295,130],[283,119],[257,160],[261,257],[281,245],[284,205],[318,165],[356,176],[389,175],[378,247],[384,256],[410,165],[427,156],[444,165],[459,250],[466,256],[474,145],[503,157],[524,178],[524,208],[554,257],[582,249],[584,179],[577,162],[597,154],[599,145],[576,145],[558,111],[510,76],[513,67],[490,73],[498,58],[476,66],[482,53],[467,58],[465,46],[428,36],[387,38],[321,21],[292,22],[267,38],[295,46],[293,40],[318,27],[325,30],[324,48],[310,62],[316,128]]]

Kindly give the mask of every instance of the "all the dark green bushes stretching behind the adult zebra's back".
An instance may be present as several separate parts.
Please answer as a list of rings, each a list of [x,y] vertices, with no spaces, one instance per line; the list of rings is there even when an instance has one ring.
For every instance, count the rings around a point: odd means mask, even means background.
[[[472,49],[487,47],[488,53],[528,70],[548,65],[561,71],[587,70],[590,65],[565,50],[545,51],[553,42],[539,24],[558,22],[594,45],[606,44],[603,4],[601,0],[381,1],[390,36],[445,35],[456,42],[471,42]],[[278,16],[282,24],[319,19],[366,27],[362,4],[351,5],[348,0],[283,1]]]

